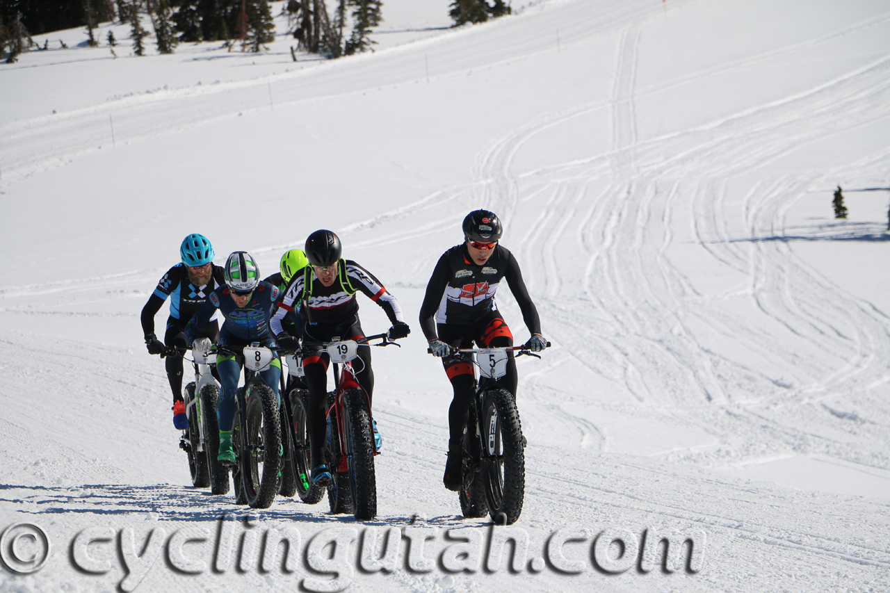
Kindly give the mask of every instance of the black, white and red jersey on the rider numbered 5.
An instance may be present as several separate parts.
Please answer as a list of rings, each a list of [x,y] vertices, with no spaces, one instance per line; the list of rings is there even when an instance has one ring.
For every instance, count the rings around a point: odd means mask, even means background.
[[[529,331],[540,333],[538,309],[531,302],[513,254],[498,244],[489,260],[477,265],[462,243],[442,254],[426,285],[424,304],[420,307],[420,326],[426,339],[436,338],[437,323],[473,325],[497,311],[495,294],[501,280],[506,280],[515,296]]]

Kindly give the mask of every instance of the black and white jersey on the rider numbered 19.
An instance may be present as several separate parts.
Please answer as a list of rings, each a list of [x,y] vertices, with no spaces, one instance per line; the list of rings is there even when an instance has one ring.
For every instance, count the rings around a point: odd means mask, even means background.
[[[281,333],[281,321],[296,306],[300,306],[300,315],[311,324],[339,326],[350,321],[359,313],[357,292],[364,293],[379,305],[392,323],[405,321],[395,296],[387,292],[371,272],[347,259],[340,260],[337,277],[327,287],[321,284],[312,267],[306,273],[296,273],[272,314],[269,324],[272,334],[278,336]]]

